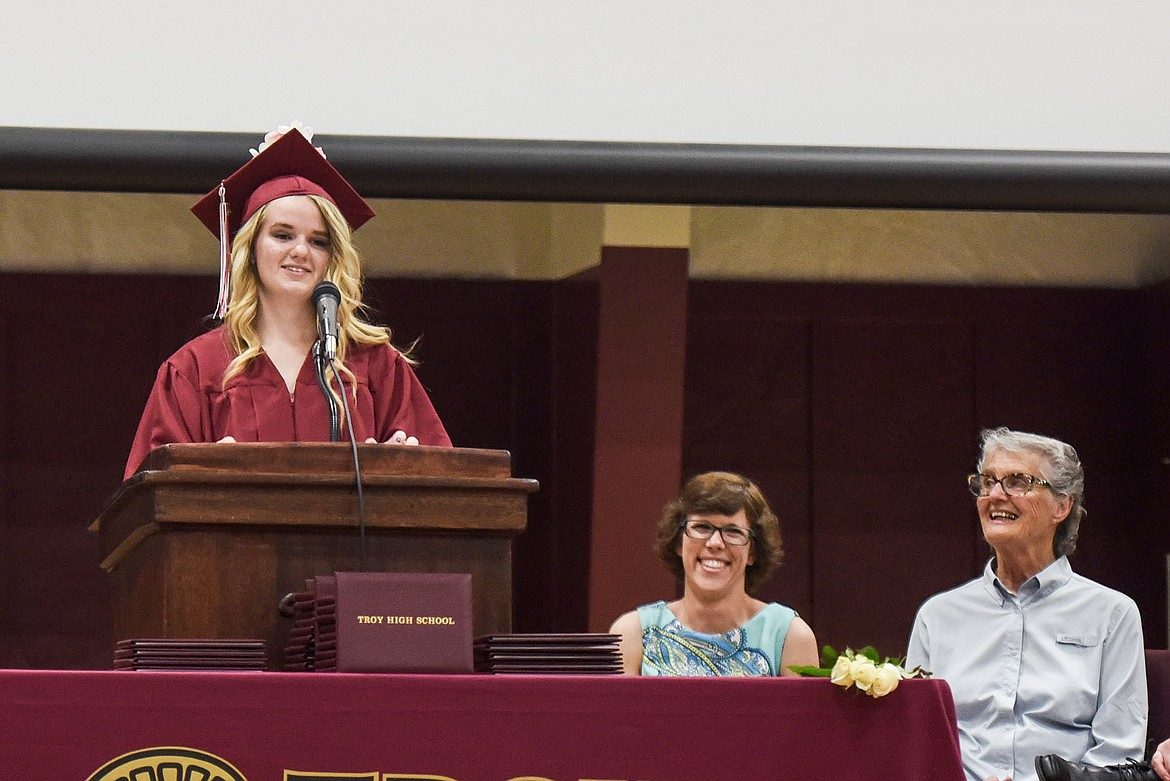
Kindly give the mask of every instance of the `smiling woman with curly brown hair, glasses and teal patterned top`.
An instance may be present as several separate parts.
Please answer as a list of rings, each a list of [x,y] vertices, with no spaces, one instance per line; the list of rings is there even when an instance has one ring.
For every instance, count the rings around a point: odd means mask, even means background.
[[[818,664],[817,638],[796,610],[751,595],[784,554],[755,483],[731,472],[690,478],[662,512],[656,547],[682,597],[613,623],[626,675],[792,676],[792,665]]]

